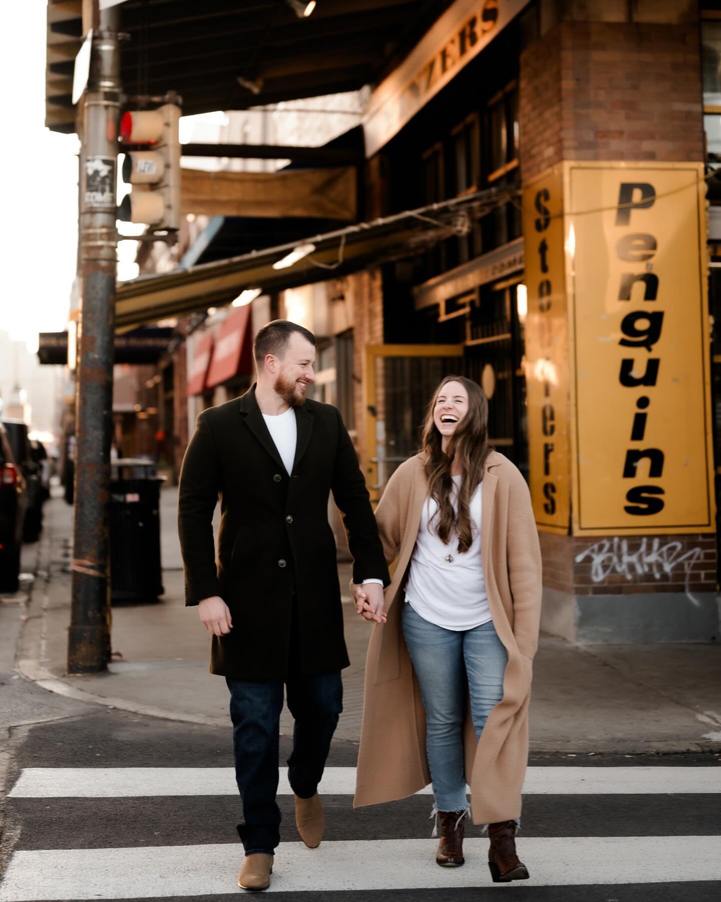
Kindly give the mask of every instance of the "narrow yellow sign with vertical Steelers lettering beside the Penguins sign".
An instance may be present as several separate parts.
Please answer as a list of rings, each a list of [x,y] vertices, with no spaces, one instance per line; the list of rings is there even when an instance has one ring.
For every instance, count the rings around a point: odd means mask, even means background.
[[[525,186],[523,207],[531,497],[538,528],[567,533],[570,521],[569,342],[560,168]]]

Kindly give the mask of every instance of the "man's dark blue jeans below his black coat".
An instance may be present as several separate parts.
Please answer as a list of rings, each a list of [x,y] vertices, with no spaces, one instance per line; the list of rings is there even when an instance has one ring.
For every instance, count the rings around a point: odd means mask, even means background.
[[[241,794],[243,823],[238,824],[246,855],[272,855],[280,842],[278,732],[283,682],[260,683],[225,678],[231,691],[235,780]],[[286,679],[287,706],[295,719],[293,751],[287,759],[293,792],[310,798],[323,777],[325,759],[342,712],[340,673]]]

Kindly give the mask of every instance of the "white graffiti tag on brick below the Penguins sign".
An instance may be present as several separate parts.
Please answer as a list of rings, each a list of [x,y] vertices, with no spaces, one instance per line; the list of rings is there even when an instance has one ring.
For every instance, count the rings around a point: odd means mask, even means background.
[[[683,552],[680,542],[661,544],[661,539],[643,538],[641,545],[634,551],[628,548],[628,539],[604,539],[595,545],[585,548],[576,555],[576,563],[581,564],[587,558],[591,560],[591,579],[594,583],[603,583],[612,573],[625,576],[630,582],[634,576],[652,575],[661,579],[662,575],[671,574],[674,567],[684,566],[686,570],[685,592],[689,600],[699,604],[690,591],[691,566],[701,557],[702,548],[691,548]]]

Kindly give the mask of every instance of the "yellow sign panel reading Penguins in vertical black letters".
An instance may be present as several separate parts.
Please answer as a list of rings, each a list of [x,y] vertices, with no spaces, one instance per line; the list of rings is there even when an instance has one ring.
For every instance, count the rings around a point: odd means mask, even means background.
[[[573,532],[714,531],[703,167],[565,179]]]

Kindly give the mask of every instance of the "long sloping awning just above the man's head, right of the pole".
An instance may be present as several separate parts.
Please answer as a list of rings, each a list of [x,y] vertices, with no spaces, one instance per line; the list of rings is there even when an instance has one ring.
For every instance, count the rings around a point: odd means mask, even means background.
[[[473,220],[507,204],[512,196],[508,189],[477,191],[316,235],[303,242],[314,244],[315,251],[287,269],[274,269],[273,263],[290,253],[295,244],[122,282],[116,292],[116,327],[125,331],[143,323],[223,306],[248,288],[264,292],[285,290],[415,256],[450,235],[467,234]]]

